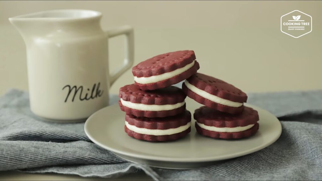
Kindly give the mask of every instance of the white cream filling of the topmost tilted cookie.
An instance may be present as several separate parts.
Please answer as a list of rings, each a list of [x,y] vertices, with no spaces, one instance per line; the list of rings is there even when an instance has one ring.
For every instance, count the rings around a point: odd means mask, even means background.
[[[194,66],[194,62],[195,61],[193,61],[192,63],[189,63],[188,65],[186,65],[182,68],[176,69],[174,71],[166,72],[161,75],[154,75],[154,76],[150,76],[150,77],[136,77],[135,76],[134,81],[136,81],[139,84],[149,84],[149,83],[155,83],[158,81],[170,79],[171,77],[177,76],[180,73],[183,73],[183,72],[189,70],[191,67]]]

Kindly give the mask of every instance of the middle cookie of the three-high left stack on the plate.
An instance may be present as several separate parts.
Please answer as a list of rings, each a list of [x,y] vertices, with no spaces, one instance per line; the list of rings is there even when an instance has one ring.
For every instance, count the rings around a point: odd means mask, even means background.
[[[119,90],[118,103],[122,111],[137,117],[167,117],[185,111],[185,93],[177,87],[144,91],[135,84]]]

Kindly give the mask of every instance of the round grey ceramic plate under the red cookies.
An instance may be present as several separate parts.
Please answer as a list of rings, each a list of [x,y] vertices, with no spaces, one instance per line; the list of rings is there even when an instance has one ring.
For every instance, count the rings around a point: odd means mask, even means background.
[[[186,99],[192,114],[201,104]],[[270,112],[250,104],[258,111],[260,128],[250,137],[221,140],[198,135],[192,120],[191,132],[185,138],[171,142],[147,142],[129,137],[124,132],[125,113],[118,104],[103,108],[85,123],[85,133],[95,144],[115,155],[135,163],[170,169],[191,169],[213,164],[215,161],[244,156],[274,143],[282,132],[279,120]]]

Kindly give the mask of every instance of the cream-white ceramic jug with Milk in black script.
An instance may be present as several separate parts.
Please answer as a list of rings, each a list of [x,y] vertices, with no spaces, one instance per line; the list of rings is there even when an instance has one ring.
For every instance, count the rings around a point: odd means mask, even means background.
[[[30,107],[47,119],[89,117],[109,102],[109,87],[133,65],[133,29],[103,31],[101,13],[52,10],[9,18],[27,49]],[[123,66],[109,73],[108,38],[125,34]]]

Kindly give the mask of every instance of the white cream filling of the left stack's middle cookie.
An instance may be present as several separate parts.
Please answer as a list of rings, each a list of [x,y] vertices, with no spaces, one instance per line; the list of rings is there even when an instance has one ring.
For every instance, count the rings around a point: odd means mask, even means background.
[[[148,105],[148,104],[140,104],[133,103],[130,101],[125,101],[121,98],[121,103],[123,106],[135,109],[135,110],[146,110],[146,111],[161,111],[161,110],[174,110],[185,105],[185,101],[179,102],[176,104],[166,104],[166,105]]]

